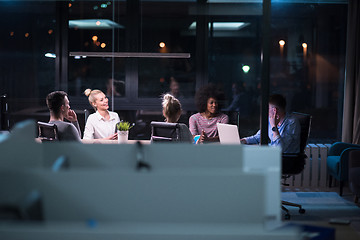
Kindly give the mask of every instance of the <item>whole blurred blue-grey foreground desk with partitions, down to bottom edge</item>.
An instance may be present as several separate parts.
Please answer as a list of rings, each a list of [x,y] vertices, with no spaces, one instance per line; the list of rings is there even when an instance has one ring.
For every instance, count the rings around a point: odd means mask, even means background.
[[[37,190],[42,220],[2,219],[1,240],[299,239],[279,228],[279,148],[39,144],[34,129],[0,142],[0,204]]]

